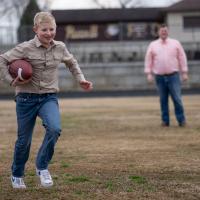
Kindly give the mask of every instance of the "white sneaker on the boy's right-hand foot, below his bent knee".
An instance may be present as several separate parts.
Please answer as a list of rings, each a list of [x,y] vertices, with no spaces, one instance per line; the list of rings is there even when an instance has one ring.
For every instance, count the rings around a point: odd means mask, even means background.
[[[38,170],[36,169],[36,174],[40,177],[40,182],[43,187],[51,187],[53,185],[53,180],[48,169]]]

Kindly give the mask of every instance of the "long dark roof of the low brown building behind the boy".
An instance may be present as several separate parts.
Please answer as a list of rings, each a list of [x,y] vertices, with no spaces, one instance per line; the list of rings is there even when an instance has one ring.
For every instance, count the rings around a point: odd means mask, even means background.
[[[57,24],[105,22],[162,22],[162,8],[53,10]]]

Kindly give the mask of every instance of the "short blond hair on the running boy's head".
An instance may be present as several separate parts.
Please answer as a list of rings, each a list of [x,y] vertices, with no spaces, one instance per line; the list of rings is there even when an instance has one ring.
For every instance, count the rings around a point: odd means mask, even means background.
[[[38,12],[34,17],[34,26],[38,26],[41,23],[54,23],[56,26],[56,20],[54,16],[49,12]]]

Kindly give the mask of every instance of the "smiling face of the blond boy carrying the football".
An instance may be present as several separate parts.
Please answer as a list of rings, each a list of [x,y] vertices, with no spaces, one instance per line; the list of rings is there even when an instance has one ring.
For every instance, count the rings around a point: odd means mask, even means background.
[[[38,39],[46,48],[49,47],[52,40],[56,35],[56,25],[53,22],[44,22],[33,28],[34,32],[38,36]]]

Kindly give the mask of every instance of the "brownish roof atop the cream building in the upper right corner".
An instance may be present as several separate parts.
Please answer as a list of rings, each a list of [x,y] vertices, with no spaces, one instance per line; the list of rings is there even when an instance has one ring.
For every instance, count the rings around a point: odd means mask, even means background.
[[[200,11],[200,0],[182,0],[165,9],[166,12]]]

